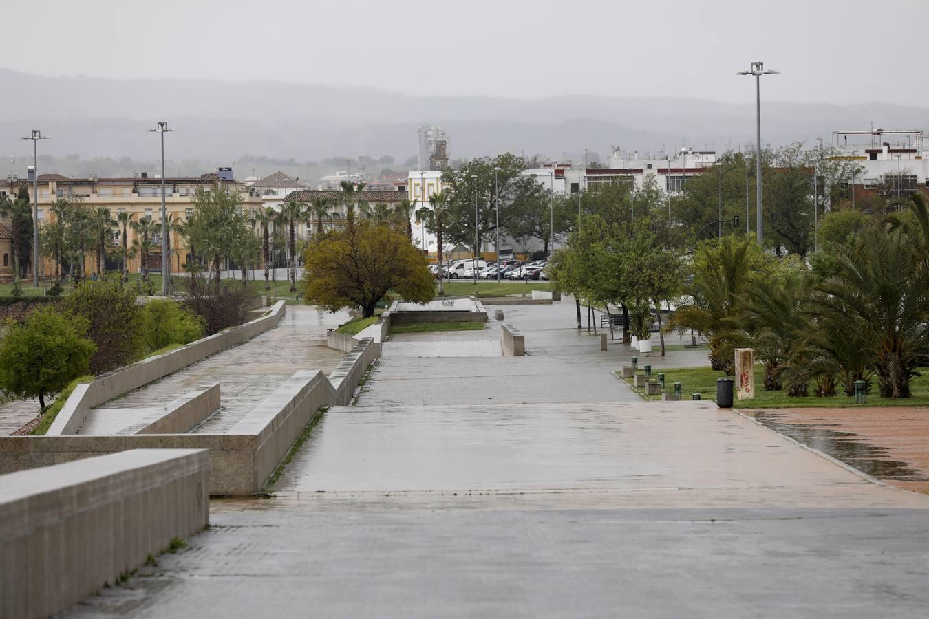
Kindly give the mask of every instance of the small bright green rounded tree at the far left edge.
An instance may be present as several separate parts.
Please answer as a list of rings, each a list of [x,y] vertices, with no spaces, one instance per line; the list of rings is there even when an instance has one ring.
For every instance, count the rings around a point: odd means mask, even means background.
[[[42,307],[12,325],[0,341],[0,388],[26,398],[38,397],[46,412],[46,395],[59,393],[87,373],[96,350],[84,335],[85,320]]]

